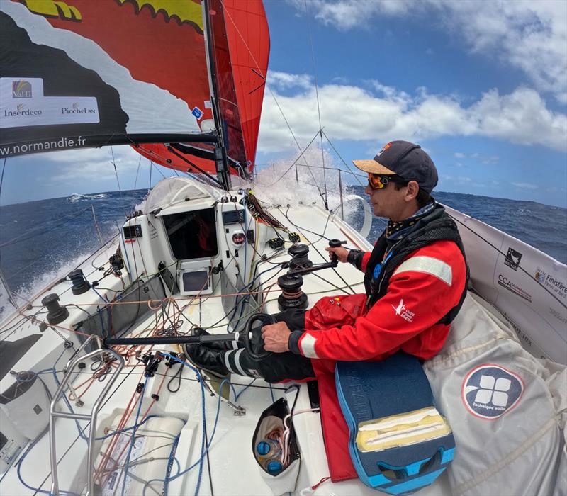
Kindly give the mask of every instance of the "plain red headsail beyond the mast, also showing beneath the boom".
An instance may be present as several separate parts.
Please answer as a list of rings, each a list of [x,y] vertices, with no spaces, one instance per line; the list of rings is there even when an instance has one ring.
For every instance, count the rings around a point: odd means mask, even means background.
[[[261,0],[210,0],[209,5],[214,84],[225,146],[231,161],[251,173],[269,58],[266,13]],[[186,160],[166,145],[137,145],[135,150],[171,169],[215,172],[214,162],[199,156],[203,147],[196,147],[195,154],[188,152]],[[238,174],[235,168],[230,171]]]

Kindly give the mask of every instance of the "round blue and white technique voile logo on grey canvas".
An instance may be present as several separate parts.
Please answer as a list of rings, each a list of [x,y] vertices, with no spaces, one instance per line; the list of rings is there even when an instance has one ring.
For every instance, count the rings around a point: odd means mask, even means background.
[[[498,419],[511,410],[524,392],[517,374],[493,363],[473,368],[465,377],[461,395],[466,409],[482,419]]]

